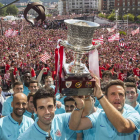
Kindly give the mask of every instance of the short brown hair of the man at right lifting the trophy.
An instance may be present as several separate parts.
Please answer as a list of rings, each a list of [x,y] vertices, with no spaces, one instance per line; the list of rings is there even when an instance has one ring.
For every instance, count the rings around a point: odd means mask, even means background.
[[[106,85],[106,88],[105,88],[105,95],[106,96],[107,96],[107,93],[108,93],[108,88],[110,88],[113,85],[119,85],[119,86],[123,87],[123,89],[125,90],[125,84],[124,84],[123,81],[118,80],[118,79],[117,80],[112,80]]]

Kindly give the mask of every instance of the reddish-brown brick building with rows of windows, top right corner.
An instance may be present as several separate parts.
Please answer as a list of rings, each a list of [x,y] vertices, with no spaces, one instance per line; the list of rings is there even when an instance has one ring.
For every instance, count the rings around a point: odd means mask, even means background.
[[[119,10],[120,15],[132,13],[140,14],[140,0],[115,0],[115,8]]]

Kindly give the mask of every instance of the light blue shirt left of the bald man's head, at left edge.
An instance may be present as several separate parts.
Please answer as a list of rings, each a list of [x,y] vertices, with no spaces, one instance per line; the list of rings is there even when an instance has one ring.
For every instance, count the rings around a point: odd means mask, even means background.
[[[2,116],[7,116],[7,115],[9,115],[10,113],[13,112],[13,108],[11,107],[12,101],[13,101],[13,96],[10,96],[3,103]]]

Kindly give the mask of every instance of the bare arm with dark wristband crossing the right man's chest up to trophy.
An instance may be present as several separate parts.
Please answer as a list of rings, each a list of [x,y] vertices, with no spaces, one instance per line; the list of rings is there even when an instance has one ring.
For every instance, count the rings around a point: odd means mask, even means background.
[[[99,78],[92,74],[93,78],[95,78],[95,88],[94,88],[94,95],[99,99],[103,96],[103,93],[100,88]],[[122,95],[125,96],[125,95]],[[113,126],[117,129],[120,133],[131,133],[133,132],[136,127],[135,124],[128,119],[125,119],[122,114],[107,100],[104,96],[99,100],[101,106],[103,107],[107,118],[113,124]],[[117,120],[117,121],[116,121]]]

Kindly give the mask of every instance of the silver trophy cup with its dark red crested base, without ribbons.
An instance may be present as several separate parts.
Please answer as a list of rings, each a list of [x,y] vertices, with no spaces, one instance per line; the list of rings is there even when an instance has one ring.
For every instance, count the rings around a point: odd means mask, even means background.
[[[67,40],[61,41],[60,45],[70,49],[74,55],[71,63],[63,62],[59,89],[64,96],[80,96],[93,94],[95,81],[85,64],[81,62],[84,54],[100,46],[99,42],[92,45],[94,30],[100,25],[85,20],[68,19],[64,20],[67,24]]]

